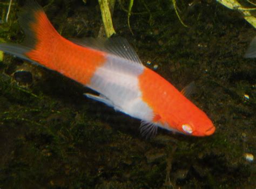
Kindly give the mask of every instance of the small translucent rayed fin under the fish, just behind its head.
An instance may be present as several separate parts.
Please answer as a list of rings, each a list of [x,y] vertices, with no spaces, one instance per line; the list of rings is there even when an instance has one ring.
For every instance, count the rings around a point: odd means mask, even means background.
[[[157,125],[152,122],[141,121],[140,123],[140,134],[149,138],[157,135]]]

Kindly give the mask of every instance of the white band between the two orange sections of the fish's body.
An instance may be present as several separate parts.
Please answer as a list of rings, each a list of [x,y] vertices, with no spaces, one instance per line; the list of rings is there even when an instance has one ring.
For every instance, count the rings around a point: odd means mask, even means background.
[[[102,94],[109,102],[106,104],[113,105],[114,109],[150,122],[153,111],[143,102],[138,86],[138,76],[143,73],[144,66],[116,55],[106,58],[106,63],[96,70],[87,87]]]

